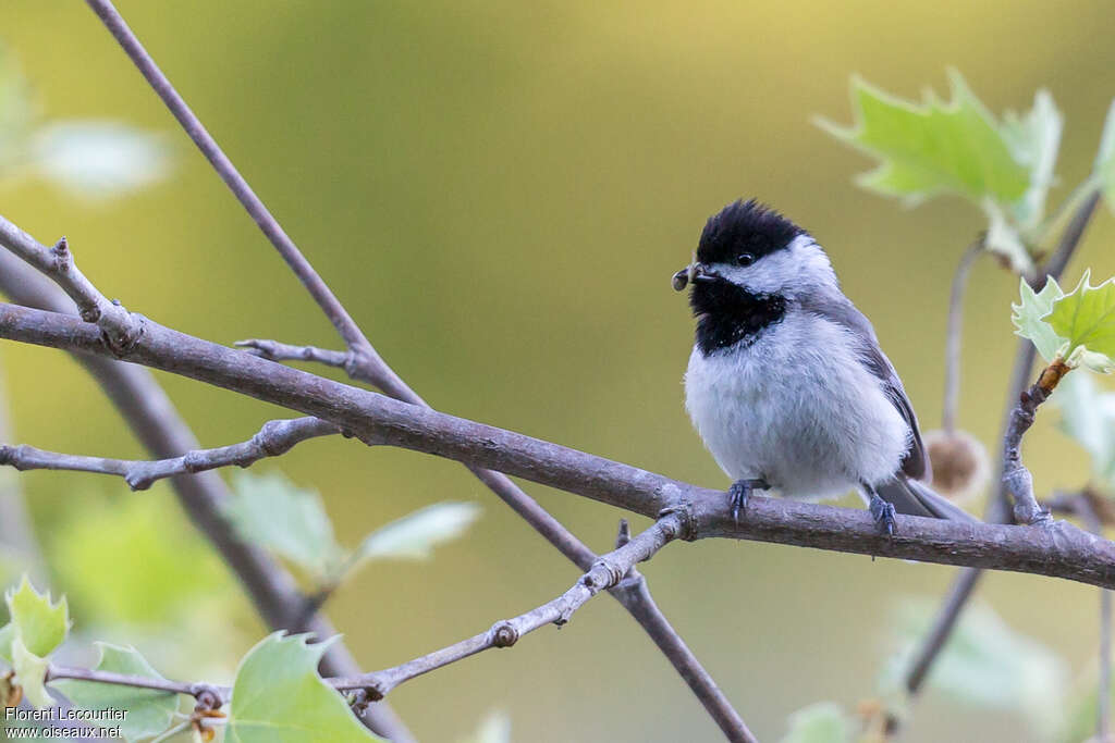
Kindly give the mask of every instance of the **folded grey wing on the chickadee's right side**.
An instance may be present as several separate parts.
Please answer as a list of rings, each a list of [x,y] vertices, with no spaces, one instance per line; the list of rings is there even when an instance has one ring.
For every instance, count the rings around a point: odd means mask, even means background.
[[[925,456],[925,447],[921,442],[918,417],[906,397],[905,388],[902,387],[902,380],[899,379],[891,360],[886,358],[879,345],[879,339],[875,336],[875,329],[872,327],[871,321],[840,290],[824,297],[805,300],[802,302],[802,309],[847,327],[860,339],[859,351],[864,366],[879,379],[883,385],[883,392],[902,414],[910,430],[913,431],[910,449],[902,458],[902,472],[917,480],[930,480],[932,473],[930,472],[929,457]]]

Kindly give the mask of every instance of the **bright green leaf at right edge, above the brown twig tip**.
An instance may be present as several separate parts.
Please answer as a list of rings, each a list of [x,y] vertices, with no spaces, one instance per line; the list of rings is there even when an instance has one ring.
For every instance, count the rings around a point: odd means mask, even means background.
[[[1076,289],[1054,301],[1046,322],[1068,341],[1069,365],[1073,353],[1083,349],[1077,354],[1080,364],[1105,372],[1115,368],[1115,280],[1092,286],[1089,277],[1090,271],[1085,271]]]

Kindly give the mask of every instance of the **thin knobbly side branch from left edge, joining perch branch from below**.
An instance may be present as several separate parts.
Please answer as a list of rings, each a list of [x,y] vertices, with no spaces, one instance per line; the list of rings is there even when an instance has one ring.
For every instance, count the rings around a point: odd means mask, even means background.
[[[0,444],[0,465],[17,470],[70,470],[116,475],[133,490],[146,490],[157,480],[219,467],[250,467],[265,457],[278,457],[307,439],[340,433],[340,429],[317,418],[268,421],[248,441],[217,449],[194,449],[181,457],[154,461],[104,459],[45,451],[27,444]],[[312,614],[312,613],[311,613]]]

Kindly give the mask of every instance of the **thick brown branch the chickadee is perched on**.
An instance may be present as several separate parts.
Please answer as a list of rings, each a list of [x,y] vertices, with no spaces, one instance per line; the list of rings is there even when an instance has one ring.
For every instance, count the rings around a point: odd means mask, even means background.
[[[0,338],[112,354],[96,327],[66,315],[0,304]],[[730,537],[837,551],[1032,573],[1115,587],[1115,545],[1058,521],[1047,527],[900,517],[895,537],[860,509],[755,497],[736,524],[723,491],[391,400],[255,359],[151,320],[124,359],[327,420],[368,444],[436,454],[506,472],[656,518],[688,515],[687,539]]]

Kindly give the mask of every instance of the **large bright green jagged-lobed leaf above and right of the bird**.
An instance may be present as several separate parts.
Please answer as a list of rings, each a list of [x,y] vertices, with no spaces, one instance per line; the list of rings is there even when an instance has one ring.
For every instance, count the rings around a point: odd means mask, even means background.
[[[951,101],[930,91],[918,105],[853,78],[855,125],[818,124],[880,160],[879,168],[859,178],[865,188],[911,202],[944,193],[977,204],[986,196],[1004,204],[1020,202],[1030,190],[1031,168],[1051,138],[1048,113],[1035,114],[1025,127],[1015,120],[1005,134],[959,72],[953,71],[950,81]],[[1024,153],[1030,156],[1029,165],[1019,159]]]

